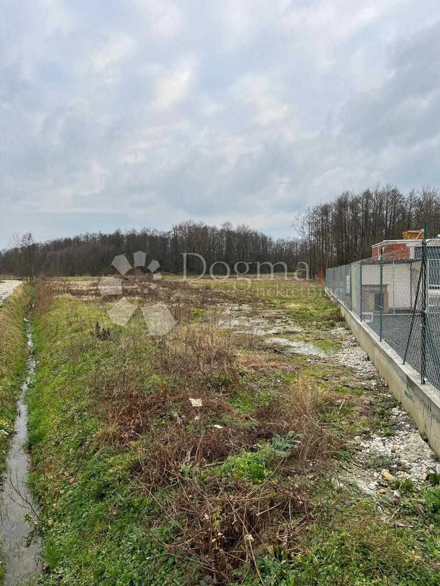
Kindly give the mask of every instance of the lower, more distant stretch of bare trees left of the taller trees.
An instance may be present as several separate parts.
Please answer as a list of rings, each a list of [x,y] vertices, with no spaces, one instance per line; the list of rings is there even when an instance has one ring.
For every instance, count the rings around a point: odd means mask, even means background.
[[[116,255],[126,254],[133,264],[132,254],[136,251],[146,253],[147,265],[150,260],[157,260],[163,272],[200,274],[203,265],[197,255],[201,255],[206,261],[208,274],[214,263],[213,272],[225,274],[226,265],[233,270],[238,262],[249,263],[249,272],[252,273],[257,262],[275,264],[282,261],[288,270],[295,270],[300,243],[295,238],[273,239],[244,224],[234,228],[231,223],[218,228],[204,223],[182,222],[170,230],[144,228],[123,233],[117,229],[109,234],[79,234],[43,243],[36,243],[28,233],[21,238],[15,237],[11,246],[0,252],[0,272],[21,277],[111,274],[114,272],[111,262]],[[244,264],[237,268],[239,272],[246,271]],[[268,270],[269,267],[263,266],[261,272]],[[275,270],[283,270],[283,267],[276,265]]]

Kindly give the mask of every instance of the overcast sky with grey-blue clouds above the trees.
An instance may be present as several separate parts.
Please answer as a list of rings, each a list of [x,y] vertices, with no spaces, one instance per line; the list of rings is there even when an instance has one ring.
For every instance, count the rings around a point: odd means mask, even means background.
[[[0,247],[440,186],[438,0],[4,0]]]

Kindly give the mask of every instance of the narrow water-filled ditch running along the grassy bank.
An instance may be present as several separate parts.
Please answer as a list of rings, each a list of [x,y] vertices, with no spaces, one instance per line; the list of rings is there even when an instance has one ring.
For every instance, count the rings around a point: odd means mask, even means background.
[[[32,352],[29,324],[27,335],[28,347]],[[5,568],[4,586],[27,584],[40,573],[39,543],[37,540],[31,540],[32,524],[25,520],[25,516],[34,517],[37,513],[36,504],[27,486],[29,458],[23,449],[28,435],[28,408],[23,398],[34,372],[35,359],[30,354],[26,380],[22,384],[17,402],[15,434],[6,458],[0,503],[0,534]]]

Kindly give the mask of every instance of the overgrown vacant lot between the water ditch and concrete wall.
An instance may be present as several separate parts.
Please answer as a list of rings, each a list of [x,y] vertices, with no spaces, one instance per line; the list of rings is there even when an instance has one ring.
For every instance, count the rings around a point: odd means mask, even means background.
[[[42,583],[438,584],[435,462],[337,309],[317,284],[234,283],[39,282]],[[151,336],[158,303],[176,323]]]

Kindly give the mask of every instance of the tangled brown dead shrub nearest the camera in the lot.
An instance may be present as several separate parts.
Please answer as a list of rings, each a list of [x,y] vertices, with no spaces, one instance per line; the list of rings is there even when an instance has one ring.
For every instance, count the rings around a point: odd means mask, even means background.
[[[217,584],[228,584],[246,561],[258,573],[256,556],[269,543],[289,550],[300,531],[292,515],[306,517],[304,489],[279,490],[272,482],[249,486],[235,481],[226,488],[218,477],[203,486],[196,479],[178,479],[177,496],[161,501],[145,489],[160,505],[161,522],[165,518],[177,526],[179,536],[162,542],[163,547],[196,563]]]

